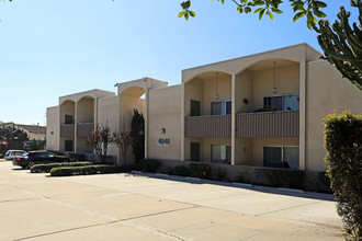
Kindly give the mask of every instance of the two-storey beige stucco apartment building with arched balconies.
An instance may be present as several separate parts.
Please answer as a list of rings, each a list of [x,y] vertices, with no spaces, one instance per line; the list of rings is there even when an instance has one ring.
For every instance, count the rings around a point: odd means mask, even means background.
[[[299,44],[185,69],[179,85],[144,78],[117,84],[117,94],[61,96],[47,110],[47,148],[89,152],[97,123],[129,129],[137,108],[146,158],[324,171],[321,118],[361,114],[362,92],[320,56]],[[109,152],[123,162],[115,146]]]

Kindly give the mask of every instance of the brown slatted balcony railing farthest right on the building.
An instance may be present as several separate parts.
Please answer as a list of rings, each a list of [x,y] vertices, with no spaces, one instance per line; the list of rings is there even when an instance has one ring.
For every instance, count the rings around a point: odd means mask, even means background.
[[[298,137],[299,111],[242,113],[236,115],[236,137]]]

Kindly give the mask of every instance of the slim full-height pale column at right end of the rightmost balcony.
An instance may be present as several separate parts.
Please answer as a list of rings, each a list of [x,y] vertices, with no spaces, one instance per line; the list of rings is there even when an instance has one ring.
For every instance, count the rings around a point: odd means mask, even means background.
[[[306,59],[299,62],[299,170],[306,169]]]

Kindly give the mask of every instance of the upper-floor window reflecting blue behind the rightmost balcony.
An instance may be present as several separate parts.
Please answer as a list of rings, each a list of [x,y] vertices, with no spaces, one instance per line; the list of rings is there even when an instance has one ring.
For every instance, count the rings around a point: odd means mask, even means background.
[[[264,108],[268,111],[299,110],[299,94],[284,94],[264,97]]]

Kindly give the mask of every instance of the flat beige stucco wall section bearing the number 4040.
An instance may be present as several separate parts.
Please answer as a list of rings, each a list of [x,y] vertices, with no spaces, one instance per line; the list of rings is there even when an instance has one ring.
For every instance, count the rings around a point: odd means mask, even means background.
[[[148,158],[181,160],[181,85],[149,91]],[[170,144],[159,144],[160,138],[169,138]]]

